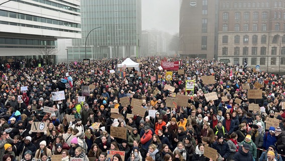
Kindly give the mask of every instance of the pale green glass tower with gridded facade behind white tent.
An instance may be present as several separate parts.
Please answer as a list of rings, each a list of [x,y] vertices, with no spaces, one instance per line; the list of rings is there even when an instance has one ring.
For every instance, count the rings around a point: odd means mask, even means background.
[[[67,46],[69,60],[140,55],[140,0],[81,1],[81,22],[82,38]]]

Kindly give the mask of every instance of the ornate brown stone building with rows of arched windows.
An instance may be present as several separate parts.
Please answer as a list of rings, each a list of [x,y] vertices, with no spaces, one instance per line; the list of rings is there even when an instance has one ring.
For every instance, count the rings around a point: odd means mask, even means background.
[[[218,60],[262,71],[285,71],[285,1],[219,3]]]

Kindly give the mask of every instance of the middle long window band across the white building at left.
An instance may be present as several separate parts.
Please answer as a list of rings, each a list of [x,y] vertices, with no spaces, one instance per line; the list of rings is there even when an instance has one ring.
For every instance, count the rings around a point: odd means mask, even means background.
[[[20,13],[16,13],[16,12],[5,11],[5,10],[0,10],[0,16],[10,17],[10,18],[15,18],[15,19],[22,19],[22,20],[29,20],[29,21],[36,21],[36,22],[42,22],[42,23],[48,23],[48,24],[55,24],[55,25],[61,25],[61,26],[69,26],[69,27],[80,28],[80,24],[75,24],[75,23],[66,22],[66,21],[59,21],[59,20],[54,20],[54,19],[48,19],[48,18],[44,18],[44,17],[20,14]]]

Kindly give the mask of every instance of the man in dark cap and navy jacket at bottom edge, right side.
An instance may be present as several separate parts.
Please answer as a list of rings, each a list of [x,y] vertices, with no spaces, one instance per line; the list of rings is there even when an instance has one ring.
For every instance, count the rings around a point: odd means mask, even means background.
[[[233,160],[235,161],[253,161],[251,152],[249,151],[249,145],[244,144],[239,147],[238,151],[234,154]]]

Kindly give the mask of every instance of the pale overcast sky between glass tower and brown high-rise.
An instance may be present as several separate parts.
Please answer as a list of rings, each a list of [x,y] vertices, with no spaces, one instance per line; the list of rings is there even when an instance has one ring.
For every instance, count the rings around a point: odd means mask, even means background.
[[[141,0],[142,30],[179,32],[179,0]]]

